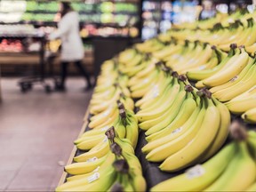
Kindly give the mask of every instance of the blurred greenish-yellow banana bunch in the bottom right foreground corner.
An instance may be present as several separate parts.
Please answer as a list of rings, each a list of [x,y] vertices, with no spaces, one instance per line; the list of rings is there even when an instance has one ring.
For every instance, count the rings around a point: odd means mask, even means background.
[[[231,124],[235,140],[218,154],[204,164],[164,180],[151,191],[255,191],[256,132],[246,132],[239,126],[237,122]]]

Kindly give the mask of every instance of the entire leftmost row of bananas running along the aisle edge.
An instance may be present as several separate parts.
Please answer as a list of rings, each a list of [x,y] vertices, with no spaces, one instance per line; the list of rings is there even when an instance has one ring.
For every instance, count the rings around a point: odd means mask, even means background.
[[[146,190],[140,162],[134,155],[139,127],[128,79],[117,68],[116,60],[102,65],[90,102],[89,131],[74,141],[83,153],[65,167],[72,176],[56,191]]]

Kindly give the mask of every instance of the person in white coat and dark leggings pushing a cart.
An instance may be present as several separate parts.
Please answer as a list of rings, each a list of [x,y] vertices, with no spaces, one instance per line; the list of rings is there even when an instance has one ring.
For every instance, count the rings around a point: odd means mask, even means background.
[[[61,39],[61,80],[57,84],[57,90],[65,90],[65,80],[68,72],[68,63],[74,62],[76,68],[80,70],[84,76],[87,86],[85,90],[92,88],[90,76],[82,66],[82,60],[84,58],[84,46],[82,39],[79,35],[79,16],[78,13],[73,11],[70,3],[60,2],[60,22],[58,29],[54,31],[48,38],[50,40],[60,38]]]

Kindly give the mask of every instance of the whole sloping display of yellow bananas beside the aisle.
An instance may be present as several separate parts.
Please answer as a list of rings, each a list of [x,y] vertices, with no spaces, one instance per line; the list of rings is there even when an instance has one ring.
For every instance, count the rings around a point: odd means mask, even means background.
[[[240,20],[235,20],[238,16]],[[148,166],[164,172],[164,179],[155,186],[147,183],[147,190],[253,191],[255,19],[255,12],[235,12],[218,24],[218,18],[212,19],[212,28],[206,28],[204,21],[189,28],[176,26],[106,60],[88,108],[88,131],[74,142],[79,151],[76,163],[66,166],[72,176],[56,190],[108,190],[119,180],[123,189],[115,187],[116,191],[136,191],[125,187],[127,180],[125,184],[120,179],[115,165],[109,166],[108,185],[96,189],[93,182],[101,182],[98,178],[86,184],[97,165],[105,166],[113,140],[121,148],[120,140],[126,140],[145,177]],[[116,140],[108,141],[114,135],[109,132],[115,132]],[[91,167],[87,161],[94,157]],[[129,158],[124,159],[129,164]],[[146,168],[143,159],[149,164]],[[102,174],[108,175],[105,171]],[[145,179],[140,180],[146,190]]]

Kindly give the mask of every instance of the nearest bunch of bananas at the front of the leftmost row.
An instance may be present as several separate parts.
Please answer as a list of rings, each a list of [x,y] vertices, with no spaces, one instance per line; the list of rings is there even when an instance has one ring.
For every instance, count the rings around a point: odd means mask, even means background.
[[[73,176],[56,191],[145,191],[146,181],[130,140],[121,139],[114,127],[105,133],[108,153],[100,158],[69,164]]]

